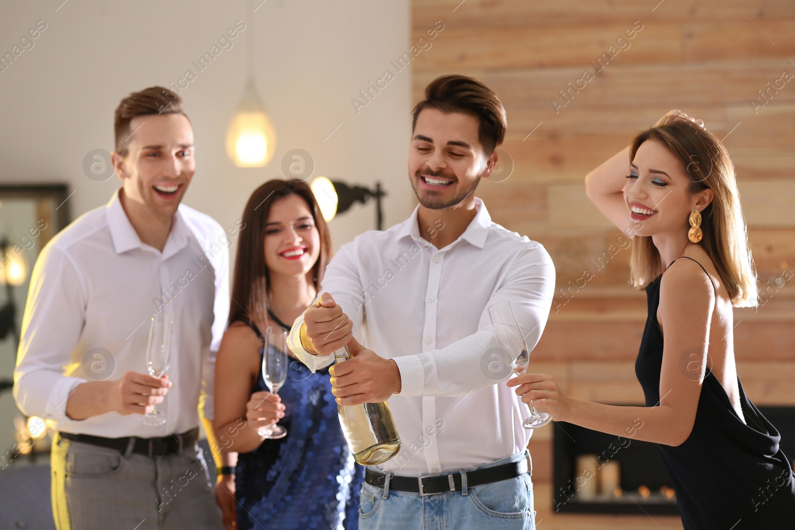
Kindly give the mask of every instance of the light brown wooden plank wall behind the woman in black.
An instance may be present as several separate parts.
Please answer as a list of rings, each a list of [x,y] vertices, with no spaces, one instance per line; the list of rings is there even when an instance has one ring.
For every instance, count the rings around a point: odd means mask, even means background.
[[[494,89],[508,114],[505,163],[478,195],[496,222],[555,261],[534,369],[577,397],[642,403],[634,358],[646,296],[627,284],[630,250],[605,254],[621,234],[588,202],[583,179],[679,108],[724,138],[738,172],[764,293],[756,310],[735,310],[739,376],[757,404],[795,404],[795,280],[786,280],[795,276],[795,79],[782,79],[795,76],[795,2],[415,0],[413,42],[436,21],[444,29],[412,62],[414,100],[447,73]],[[597,68],[611,45],[615,57]],[[569,90],[586,71],[594,79]],[[577,288],[586,270],[594,277]],[[545,428],[531,442],[536,480],[551,474],[549,438]]]

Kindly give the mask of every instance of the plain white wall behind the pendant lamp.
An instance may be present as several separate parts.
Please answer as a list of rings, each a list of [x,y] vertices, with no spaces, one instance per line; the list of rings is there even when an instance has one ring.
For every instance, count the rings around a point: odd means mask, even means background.
[[[261,1],[253,0],[254,6]],[[113,149],[118,101],[131,91],[176,84],[190,69],[196,79],[181,97],[195,130],[196,176],[184,203],[232,226],[250,192],[279,177],[281,158],[300,148],[312,154],[314,176],[381,180],[389,193],[385,226],[411,212],[411,75],[390,65],[409,48],[408,0],[266,0],[253,19],[242,1],[60,2],[6,0],[0,6],[2,53],[37,21],[47,25],[33,48],[0,73],[0,183],[66,182],[75,191],[68,199],[72,218],[106,203],[118,180],[90,180],[83,157]],[[198,72],[191,61],[238,20],[246,29],[233,47]],[[242,95],[252,32],[255,79],[277,129],[277,151],[266,168],[236,168],[224,149],[236,109],[227,94],[236,101]],[[387,68],[395,79],[357,114],[351,99]],[[356,205],[330,226],[339,247],[374,228],[374,205]],[[11,401],[10,393],[0,397],[2,450],[13,443]]]

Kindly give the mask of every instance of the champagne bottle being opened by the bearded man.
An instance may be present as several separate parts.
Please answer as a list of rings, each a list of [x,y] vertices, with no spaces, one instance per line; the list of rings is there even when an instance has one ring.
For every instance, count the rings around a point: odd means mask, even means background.
[[[336,363],[352,357],[347,346],[334,352]],[[386,462],[400,451],[400,436],[386,401],[347,406],[338,404],[337,413],[356,462],[374,466]]]

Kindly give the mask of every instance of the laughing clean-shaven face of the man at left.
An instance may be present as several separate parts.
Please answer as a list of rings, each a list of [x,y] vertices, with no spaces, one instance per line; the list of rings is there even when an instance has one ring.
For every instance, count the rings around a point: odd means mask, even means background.
[[[124,194],[150,215],[170,218],[196,171],[193,127],[183,114],[150,114],[130,121],[133,131],[116,172]]]

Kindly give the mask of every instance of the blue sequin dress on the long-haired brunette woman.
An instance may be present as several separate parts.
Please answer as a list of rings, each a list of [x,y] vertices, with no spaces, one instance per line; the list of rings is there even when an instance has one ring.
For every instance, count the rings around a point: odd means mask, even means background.
[[[262,340],[257,327],[251,327]],[[279,424],[287,435],[238,455],[239,530],[358,530],[364,468],[355,463],[339,426],[329,377],[328,368],[312,373],[291,359],[287,382],[279,390],[285,404]],[[260,368],[252,393],[266,390]]]

